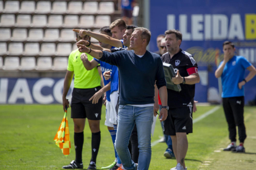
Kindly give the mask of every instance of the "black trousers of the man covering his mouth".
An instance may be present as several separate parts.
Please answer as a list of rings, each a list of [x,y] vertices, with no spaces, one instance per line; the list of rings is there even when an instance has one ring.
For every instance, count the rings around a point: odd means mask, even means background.
[[[236,142],[236,126],[238,127],[239,141],[246,138],[244,126],[244,96],[223,98],[223,109],[228,122],[229,139]]]

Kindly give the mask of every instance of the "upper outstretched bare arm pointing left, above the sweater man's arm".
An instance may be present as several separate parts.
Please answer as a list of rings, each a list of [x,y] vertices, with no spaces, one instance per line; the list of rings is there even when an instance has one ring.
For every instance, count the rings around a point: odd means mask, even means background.
[[[98,41],[104,42],[106,44],[109,44],[114,47],[122,47],[122,42],[119,39],[114,39],[111,36],[108,36],[106,34],[100,34],[100,33],[94,33],[92,31],[87,30],[77,30],[73,29],[76,33],[80,33],[80,36],[92,36],[93,38],[97,39]]]

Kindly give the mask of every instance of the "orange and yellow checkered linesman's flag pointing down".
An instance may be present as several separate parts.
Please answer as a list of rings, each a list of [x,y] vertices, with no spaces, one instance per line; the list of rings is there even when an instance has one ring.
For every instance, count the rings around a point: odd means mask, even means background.
[[[64,117],[59,126],[58,132],[54,137],[56,145],[61,148],[62,153],[67,156],[70,153],[70,139],[69,139],[69,123],[67,123],[67,107],[65,109]]]

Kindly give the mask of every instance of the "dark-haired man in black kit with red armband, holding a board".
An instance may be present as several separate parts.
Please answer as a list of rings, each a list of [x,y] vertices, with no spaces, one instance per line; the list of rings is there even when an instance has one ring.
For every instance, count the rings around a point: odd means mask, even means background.
[[[168,52],[161,58],[163,62],[173,65],[176,77],[174,84],[180,84],[182,91],[168,89],[168,117],[164,121],[164,134],[171,136],[173,152],[176,157],[178,170],[187,169],[185,157],[187,148],[187,134],[193,131],[192,111],[195,95],[195,83],[200,82],[197,63],[191,54],[180,49],[182,33],[177,30],[167,30],[166,47]],[[163,110],[163,106],[162,109]],[[168,109],[168,108],[166,108]]]

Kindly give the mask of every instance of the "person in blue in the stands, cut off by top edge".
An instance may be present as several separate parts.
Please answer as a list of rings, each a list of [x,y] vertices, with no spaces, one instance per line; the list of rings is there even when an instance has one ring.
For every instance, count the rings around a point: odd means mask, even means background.
[[[122,20],[132,25],[132,12],[134,10],[135,0],[121,0]]]

